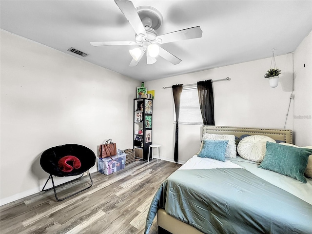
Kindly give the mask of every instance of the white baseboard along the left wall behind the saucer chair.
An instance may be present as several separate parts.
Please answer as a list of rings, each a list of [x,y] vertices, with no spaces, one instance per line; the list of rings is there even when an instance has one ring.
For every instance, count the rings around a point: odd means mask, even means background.
[[[91,173],[94,173],[94,172],[97,172],[97,168],[96,167],[92,167],[89,172],[90,174]],[[78,177],[78,176],[76,176]],[[55,186],[58,186],[59,184],[63,184],[63,183],[66,183],[70,180],[73,180],[74,177],[62,177],[62,179],[58,179],[57,181],[55,181]],[[51,182],[50,182],[51,184]],[[42,185],[43,187],[43,185]],[[13,201],[17,201],[21,198],[24,198],[26,196],[30,196],[30,195],[34,195],[34,194],[37,194],[39,192],[41,192],[42,190],[42,187],[37,187],[37,188],[33,188],[33,189],[30,189],[30,190],[27,190],[27,191],[24,191],[24,192],[21,192],[19,194],[15,194],[15,195],[12,195],[12,196],[8,196],[8,197],[5,197],[5,198],[1,198],[0,199],[0,206],[3,206],[5,204],[8,204],[10,202],[13,202]],[[45,189],[49,189],[49,188],[52,188],[52,185],[50,187],[46,187]]]

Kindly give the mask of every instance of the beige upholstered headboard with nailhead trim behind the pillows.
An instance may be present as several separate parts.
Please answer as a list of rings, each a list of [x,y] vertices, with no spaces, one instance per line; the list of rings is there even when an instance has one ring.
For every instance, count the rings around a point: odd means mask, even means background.
[[[292,144],[292,130],[289,129],[265,129],[265,128],[239,128],[225,126],[203,126],[203,134],[228,134],[240,137],[242,135],[264,135],[274,140],[285,141]]]

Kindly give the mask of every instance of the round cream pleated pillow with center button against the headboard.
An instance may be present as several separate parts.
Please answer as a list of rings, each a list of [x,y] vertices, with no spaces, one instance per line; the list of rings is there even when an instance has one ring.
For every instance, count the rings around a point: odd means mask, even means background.
[[[267,141],[276,143],[271,137],[262,135],[244,137],[237,145],[237,153],[247,160],[262,162],[265,156]]]

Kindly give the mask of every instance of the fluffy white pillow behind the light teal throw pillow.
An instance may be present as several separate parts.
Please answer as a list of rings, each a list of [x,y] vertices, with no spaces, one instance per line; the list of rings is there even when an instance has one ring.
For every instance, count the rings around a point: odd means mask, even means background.
[[[226,146],[226,150],[225,150],[225,157],[231,157],[231,158],[236,157],[236,144],[235,144],[234,135],[204,133],[201,144],[200,144],[199,152],[196,155],[198,155],[201,151],[201,148],[203,146],[203,140],[228,140],[228,145]]]

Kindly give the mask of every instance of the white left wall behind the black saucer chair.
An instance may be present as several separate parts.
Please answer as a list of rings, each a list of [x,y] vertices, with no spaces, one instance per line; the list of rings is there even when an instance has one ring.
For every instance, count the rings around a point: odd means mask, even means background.
[[[50,147],[81,144],[98,155],[112,138],[132,148],[139,81],[2,30],[0,48],[1,204],[42,189],[39,158]]]

